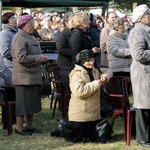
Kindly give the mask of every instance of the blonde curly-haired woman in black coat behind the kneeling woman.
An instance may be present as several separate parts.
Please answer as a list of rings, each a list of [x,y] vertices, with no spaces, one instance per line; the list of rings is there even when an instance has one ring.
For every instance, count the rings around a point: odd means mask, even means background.
[[[73,18],[75,28],[72,30],[70,44],[72,50],[72,62],[75,64],[75,56],[83,49],[91,49],[94,56],[100,52],[98,47],[93,47],[94,41],[91,40],[89,34],[90,20],[89,15],[85,12],[77,13]],[[97,54],[96,54],[97,53]]]

